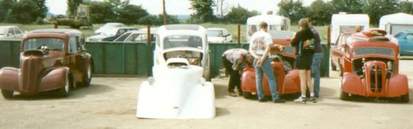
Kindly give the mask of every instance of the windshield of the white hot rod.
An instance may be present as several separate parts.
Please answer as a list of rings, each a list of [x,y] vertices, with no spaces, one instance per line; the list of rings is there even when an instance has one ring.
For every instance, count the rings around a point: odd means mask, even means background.
[[[165,37],[165,49],[178,48],[178,47],[190,47],[202,49],[202,39],[197,36],[189,35],[174,35]]]

